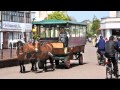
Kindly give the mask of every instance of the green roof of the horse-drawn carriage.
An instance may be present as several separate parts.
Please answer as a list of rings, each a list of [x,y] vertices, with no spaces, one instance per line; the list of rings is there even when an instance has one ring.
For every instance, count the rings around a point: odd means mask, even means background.
[[[86,25],[80,22],[65,21],[65,20],[42,20],[42,21],[33,21],[32,24],[81,24]]]

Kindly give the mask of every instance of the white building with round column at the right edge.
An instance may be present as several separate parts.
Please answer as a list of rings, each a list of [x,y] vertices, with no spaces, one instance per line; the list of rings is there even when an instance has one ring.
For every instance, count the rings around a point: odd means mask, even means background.
[[[120,11],[109,11],[109,17],[101,18],[100,30],[103,37],[120,36]]]

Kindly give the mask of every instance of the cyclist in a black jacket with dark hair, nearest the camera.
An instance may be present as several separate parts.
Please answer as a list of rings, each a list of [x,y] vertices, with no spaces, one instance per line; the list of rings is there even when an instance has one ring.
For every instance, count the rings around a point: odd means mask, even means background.
[[[117,75],[118,65],[117,65],[117,60],[115,58],[116,50],[118,51],[118,47],[116,45],[116,42],[114,41],[114,36],[110,36],[109,41],[107,41],[105,44],[105,56],[107,58],[112,59],[114,75],[118,76]]]

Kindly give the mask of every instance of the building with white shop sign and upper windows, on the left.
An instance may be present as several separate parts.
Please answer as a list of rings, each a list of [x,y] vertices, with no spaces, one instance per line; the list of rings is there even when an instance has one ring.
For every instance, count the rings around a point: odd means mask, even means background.
[[[1,48],[10,48],[10,43],[15,40],[23,39],[27,42],[30,39],[32,31],[31,11],[1,11],[0,14]]]

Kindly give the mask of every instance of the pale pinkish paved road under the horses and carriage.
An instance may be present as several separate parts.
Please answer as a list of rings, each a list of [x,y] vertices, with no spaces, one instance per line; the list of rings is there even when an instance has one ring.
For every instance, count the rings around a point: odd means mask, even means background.
[[[19,66],[0,69],[0,79],[105,79],[105,66],[99,66],[96,60],[96,48],[92,44],[85,47],[84,65],[71,60],[72,68],[58,68],[48,72],[30,72],[31,64],[27,64],[27,73],[19,73]]]

